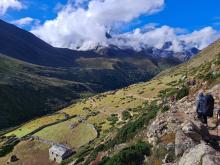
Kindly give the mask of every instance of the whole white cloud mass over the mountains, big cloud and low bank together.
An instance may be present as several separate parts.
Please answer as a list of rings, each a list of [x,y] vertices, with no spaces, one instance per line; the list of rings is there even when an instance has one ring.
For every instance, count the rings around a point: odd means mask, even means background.
[[[184,29],[155,24],[116,33],[134,19],[160,12],[164,6],[164,0],[69,0],[55,19],[35,26],[31,32],[53,46],[81,50],[109,44],[135,50],[146,46],[160,49],[172,42],[167,49],[181,52],[187,47],[203,49],[220,37],[220,32],[212,27],[187,33]],[[106,37],[109,31],[111,37]]]

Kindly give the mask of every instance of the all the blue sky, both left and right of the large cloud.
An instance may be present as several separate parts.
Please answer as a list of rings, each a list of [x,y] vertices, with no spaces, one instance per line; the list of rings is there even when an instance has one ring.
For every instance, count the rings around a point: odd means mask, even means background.
[[[23,0],[23,2],[27,6],[26,9],[20,11],[9,9],[2,19],[10,22],[24,17],[32,17],[43,23],[56,17],[59,4],[67,4],[67,0]],[[185,28],[189,31],[206,26],[220,29],[219,0],[166,0],[165,2],[161,12],[141,16],[123,29],[129,31],[147,23]],[[30,30],[31,26],[24,28]]]

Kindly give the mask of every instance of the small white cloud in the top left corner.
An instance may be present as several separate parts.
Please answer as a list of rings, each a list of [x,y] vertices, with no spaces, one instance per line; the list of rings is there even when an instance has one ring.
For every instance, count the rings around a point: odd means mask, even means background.
[[[1,0],[0,1],[0,16],[4,15],[9,8],[20,10],[24,6],[18,0]]]

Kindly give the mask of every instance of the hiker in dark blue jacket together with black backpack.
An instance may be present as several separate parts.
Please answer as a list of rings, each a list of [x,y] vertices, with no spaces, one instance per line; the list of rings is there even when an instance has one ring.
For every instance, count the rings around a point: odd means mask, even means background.
[[[213,117],[214,98],[212,95],[204,95],[201,92],[198,96],[196,112],[202,123],[207,125],[207,117]]]

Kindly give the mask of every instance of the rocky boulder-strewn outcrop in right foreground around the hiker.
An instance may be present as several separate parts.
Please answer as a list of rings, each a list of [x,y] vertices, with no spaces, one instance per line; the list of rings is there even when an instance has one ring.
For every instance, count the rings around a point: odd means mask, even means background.
[[[220,104],[220,85],[207,89],[215,99],[213,118],[208,119],[209,127],[197,119],[196,98],[198,93],[170,103],[170,110],[156,117],[148,127],[147,136],[150,143],[156,146],[165,145],[167,150],[174,151],[176,160],[172,162],[168,152],[164,157],[164,164],[178,165],[217,165],[220,162],[219,135],[220,125],[217,122],[217,110]],[[175,133],[174,139],[158,143],[158,139]]]

